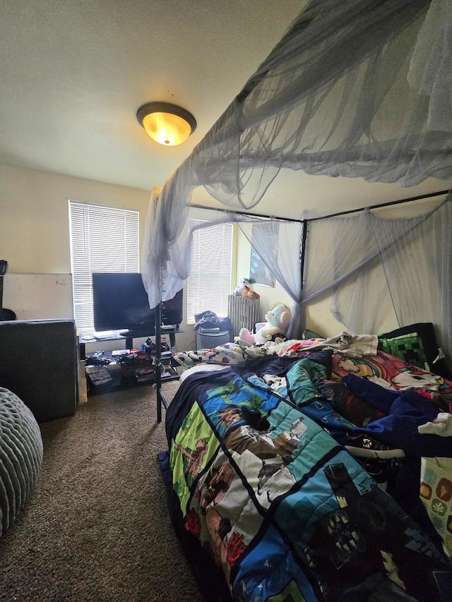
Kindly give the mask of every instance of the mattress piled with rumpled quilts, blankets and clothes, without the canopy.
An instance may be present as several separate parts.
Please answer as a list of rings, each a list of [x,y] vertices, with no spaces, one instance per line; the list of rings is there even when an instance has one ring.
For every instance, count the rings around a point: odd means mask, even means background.
[[[346,332],[175,356],[159,457],[207,599],[451,600],[451,380]]]

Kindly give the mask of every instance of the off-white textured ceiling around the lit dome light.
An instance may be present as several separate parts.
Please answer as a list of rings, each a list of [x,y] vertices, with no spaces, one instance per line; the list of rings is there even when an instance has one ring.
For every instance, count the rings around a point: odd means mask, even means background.
[[[304,4],[0,0],[0,162],[145,190],[165,183]],[[194,114],[186,143],[164,148],[148,138],[136,109],[152,100]],[[259,211],[302,217],[445,187],[432,180],[400,191],[289,173]],[[194,202],[218,205],[202,189]]]

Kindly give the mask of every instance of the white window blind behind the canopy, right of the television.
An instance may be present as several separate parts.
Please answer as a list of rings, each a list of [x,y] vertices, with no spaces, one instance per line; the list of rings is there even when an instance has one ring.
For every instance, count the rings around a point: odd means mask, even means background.
[[[203,223],[189,219],[189,227]],[[227,296],[231,292],[232,224],[216,224],[194,232],[190,249],[187,281],[187,319],[210,310],[227,315]]]

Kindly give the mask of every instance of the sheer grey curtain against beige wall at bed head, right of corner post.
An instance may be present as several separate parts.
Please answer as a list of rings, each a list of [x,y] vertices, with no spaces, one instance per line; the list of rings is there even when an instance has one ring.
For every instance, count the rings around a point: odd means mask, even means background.
[[[309,222],[303,303],[333,294],[331,313],[356,333],[381,332],[388,308],[399,326],[432,322],[451,361],[452,193],[421,211]]]

